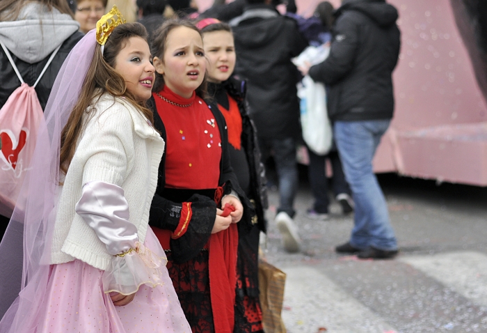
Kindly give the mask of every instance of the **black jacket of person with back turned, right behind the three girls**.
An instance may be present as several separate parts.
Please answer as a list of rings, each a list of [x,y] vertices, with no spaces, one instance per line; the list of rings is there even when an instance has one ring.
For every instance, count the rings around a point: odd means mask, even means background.
[[[299,137],[300,79],[291,59],[308,45],[292,18],[272,6],[246,6],[244,14],[230,21],[234,31],[235,74],[248,83],[250,116],[257,135],[267,139]]]

